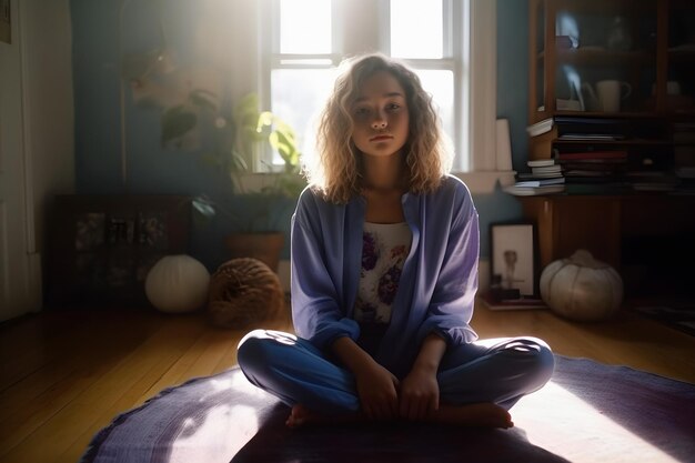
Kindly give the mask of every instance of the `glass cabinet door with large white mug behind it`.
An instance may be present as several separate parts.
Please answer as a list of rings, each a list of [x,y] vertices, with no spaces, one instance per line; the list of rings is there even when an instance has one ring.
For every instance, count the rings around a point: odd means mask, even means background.
[[[656,110],[657,2],[555,2],[556,112]]]

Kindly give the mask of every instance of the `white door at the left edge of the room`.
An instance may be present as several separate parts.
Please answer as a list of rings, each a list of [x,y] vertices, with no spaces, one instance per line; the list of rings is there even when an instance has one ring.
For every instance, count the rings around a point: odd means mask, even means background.
[[[31,288],[29,165],[24,157],[19,2],[11,1],[11,43],[0,41],[0,321],[39,309]]]

